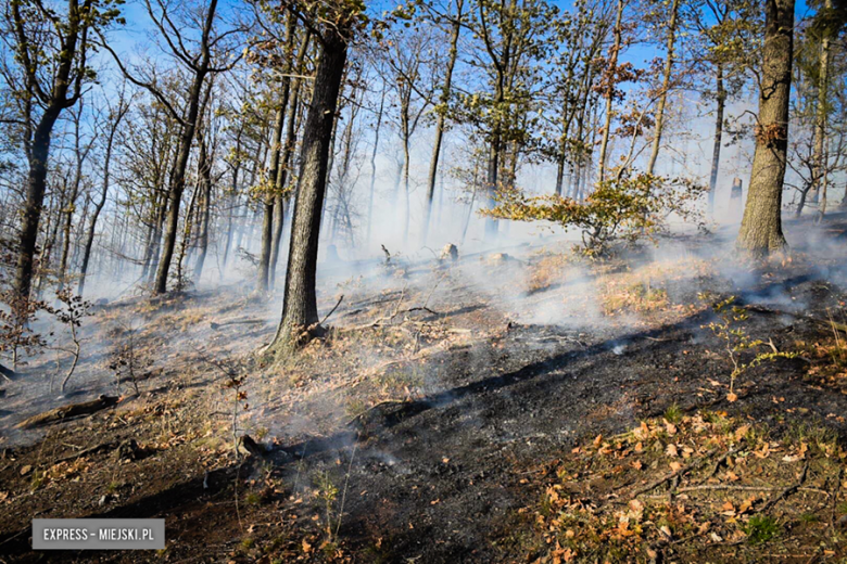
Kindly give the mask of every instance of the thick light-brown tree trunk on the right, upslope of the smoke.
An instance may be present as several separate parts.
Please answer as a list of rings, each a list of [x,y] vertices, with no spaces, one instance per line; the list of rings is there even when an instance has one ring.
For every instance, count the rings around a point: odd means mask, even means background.
[[[764,17],[756,153],[736,242],[739,251],[754,257],[767,257],[787,245],[781,208],[788,148],[794,0],[766,0]]]

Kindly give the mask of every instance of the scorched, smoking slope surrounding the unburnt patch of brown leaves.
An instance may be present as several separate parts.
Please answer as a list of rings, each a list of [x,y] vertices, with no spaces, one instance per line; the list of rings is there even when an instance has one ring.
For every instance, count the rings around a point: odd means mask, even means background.
[[[791,226],[789,240],[812,241],[802,235],[809,229]],[[144,320],[135,336],[139,357],[148,358],[141,394],[22,435],[10,427],[24,415],[112,389],[114,376],[103,375],[108,350],[80,369],[71,399],[36,405],[27,396],[35,384],[5,386],[0,559],[579,561],[576,552],[552,552],[557,544],[539,530],[535,510],[551,473],[568,463],[572,471],[574,449],[595,436],[673,410],[738,418],[775,440],[798,423],[847,438],[847,379],[835,357],[819,354],[827,343],[830,352],[840,346],[822,321],[846,315],[844,226],[816,233],[824,239],[795,244],[792,261],[758,270],[728,266],[731,252],[719,236],[666,242],[661,252],[646,248],[609,265],[534,245],[455,266],[380,267],[328,284],[324,310],[345,294],[330,320],[336,331],[274,366],[248,354],[273,336],[273,323],[208,328],[212,320],[273,319],[264,303],[237,290],[106,306],[90,324],[101,343],[126,337],[110,321]],[[734,401],[730,361],[708,328],[720,320],[712,304],[729,296],[746,312],[747,334],[801,357],[744,372]],[[750,355],[742,352],[747,362]],[[245,376],[245,400],[233,399],[228,373]],[[242,448],[236,459],[233,411],[235,434],[250,433],[267,452]],[[140,446],[134,457],[104,448],[60,461],[128,438]],[[838,487],[827,492],[833,508]],[[739,542],[711,554],[837,562],[845,553],[833,530],[842,515],[827,512],[819,529],[794,539],[799,549],[779,557],[745,552]],[[164,516],[167,549],[35,553],[36,516]],[[680,540],[608,560],[673,561]]]

